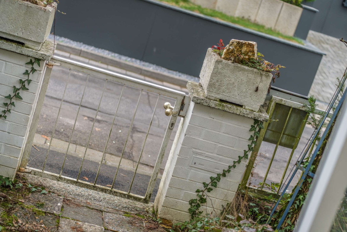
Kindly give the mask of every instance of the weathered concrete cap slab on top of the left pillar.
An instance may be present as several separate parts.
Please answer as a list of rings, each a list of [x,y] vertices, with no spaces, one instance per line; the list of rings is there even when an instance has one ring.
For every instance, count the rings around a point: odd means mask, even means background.
[[[55,49],[56,46],[57,46],[57,43],[54,44],[52,41],[46,40],[42,44],[40,50],[35,50],[32,48],[24,47],[21,44],[0,38],[0,49],[5,49],[11,52],[27,55],[27,56],[42,59],[45,61],[49,61],[52,58],[53,50]]]

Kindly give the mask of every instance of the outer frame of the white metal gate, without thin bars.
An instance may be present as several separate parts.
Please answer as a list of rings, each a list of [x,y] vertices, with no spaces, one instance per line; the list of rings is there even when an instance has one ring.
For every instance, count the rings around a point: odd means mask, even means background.
[[[105,70],[102,68],[98,68],[98,67],[94,67],[91,65],[71,61],[70,59],[66,59],[66,58],[62,58],[62,57],[58,57],[58,56],[53,56],[51,61],[46,66],[47,66],[46,73],[43,77],[43,84],[42,84],[39,96],[37,98],[36,107],[35,107],[34,114],[33,114],[33,120],[29,126],[28,138],[27,138],[24,150],[23,150],[23,155],[22,155],[20,167],[26,167],[26,165],[27,165],[27,161],[28,161],[28,158],[30,155],[31,147],[32,147],[33,140],[34,140],[34,135],[36,132],[37,124],[39,122],[39,118],[40,118],[40,114],[41,114],[41,110],[42,110],[42,105],[43,105],[45,94],[46,94],[46,91],[48,88],[48,83],[49,83],[49,79],[50,79],[50,75],[51,75],[53,66],[62,66],[65,68],[69,68],[70,70],[82,72],[82,73],[85,73],[88,75],[93,75],[96,77],[103,78],[105,80],[111,80],[111,81],[117,82],[119,84],[132,86],[132,87],[135,87],[138,89],[142,89],[145,91],[157,93],[159,95],[163,95],[163,96],[167,96],[169,98],[176,99],[174,109],[177,108],[178,113],[176,115],[172,114],[170,116],[167,130],[165,132],[165,135],[164,135],[164,138],[163,138],[160,150],[159,150],[159,155],[158,155],[158,158],[156,160],[156,163],[155,163],[155,166],[153,169],[153,173],[152,173],[152,176],[151,176],[151,179],[150,179],[150,182],[149,182],[149,185],[147,187],[147,191],[146,191],[146,194],[144,197],[136,195],[136,194],[132,194],[132,193],[130,193],[130,191],[124,192],[124,191],[120,191],[118,189],[111,189],[111,188],[104,187],[101,185],[96,185],[95,183],[92,184],[92,183],[88,183],[88,182],[85,182],[85,181],[82,181],[79,179],[77,180],[77,179],[62,176],[59,174],[50,173],[48,171],[39,170],[36,168],[31,168],[31,174],[36,175],[36,176],[56,180],[56,181],[67,183],[67,184],[73,184],[73,185],[76,185],[79,187],[88,188],[88,189],[91,189],[94,191],[99,191],[99,192],[107,193],[110,195],[115,195],[115,196],[120,196],[120,197],[124,197],[124,198],[128,198],[128,199],[133,199],[133,200],[143,202],[143,203],[149,203],[151,196],[152,196],[152,193],[153,193],[156,179],[158,178],[160,166],[161,166],[162,160],[164,158],[165,151],[167,149],[167,145],[168,145],[172,130],[174,128],[174,125],[176,123],[178,116],[179,117],[185,117],[187,109],[188,109],[189,104],[191,102],[191,98],[188,95],[186,95],[185,93],[177,91],[177,90],[169,89],[169,88],[164,87],[164,86],[160,86],[160,85],[152,84],[152,83],[145,82],[142,80],[138,80],[136,78],[125,76],[125,75],[118,74],[115,72],[111,72],[111,71],[108,71],[108,70]],[[172,126],[172,123],[174,123],[173,126]],[[172,129],[170,128],[170,124],[171,124]]]

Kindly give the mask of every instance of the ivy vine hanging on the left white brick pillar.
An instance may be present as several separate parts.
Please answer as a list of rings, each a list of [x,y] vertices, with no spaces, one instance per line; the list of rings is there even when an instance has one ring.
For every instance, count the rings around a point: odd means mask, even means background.
[[[21,85],[19,88],[17,88],[15,85],[13,86],[13,96],[11,96],[11,94],[9,94],[8,96],[6,96],[5,98],[10,99],[10,103],[7,102],[3,102],[2,104],[5,105],[6,110],[2,110],[1,112],[3,114],[0,114],[0,118],[5,118],[7,117],[7,112],[11,113],[11,109],[9,109],[10,105],[13,105],[13,107],[15,107],[15,102],[13,101],[13,98],[18,98],[20,100],[23,100],[22,96],[19,95],[19,90],[29,90],[26,86],[25,86],[25,82],[29,85],[30,82],[32,80],[29,79],[30,74],[34,74],[37,70],[34,68],[34,64],[37,64],[40,67],[40,61],[41,59],[37,59],[35,58],[34,62],[32,59],[30,59],[29,62],[25,63],[25,64],[30,64],[31,65],[31,70],[25,70],[25,73],[23,73],[23,75],[28,75],[28,78],[25,79],[24,81],[22,79],[19,79],[19,84]]]

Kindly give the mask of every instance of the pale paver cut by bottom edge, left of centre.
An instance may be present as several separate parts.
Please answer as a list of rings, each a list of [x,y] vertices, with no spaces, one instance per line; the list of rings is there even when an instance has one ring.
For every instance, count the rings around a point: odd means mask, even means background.
[[[58,232],[103,232],[104,228],[85,222],[78,222],[66,218],[60,219]]]

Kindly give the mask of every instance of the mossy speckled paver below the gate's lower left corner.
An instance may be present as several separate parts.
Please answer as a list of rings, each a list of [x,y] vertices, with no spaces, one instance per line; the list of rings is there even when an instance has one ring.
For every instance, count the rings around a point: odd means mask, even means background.
[[[33,193],[25,204],[33,205],[38,210],[44,212],[60,214],[62,201],[63,197],[55,194]],[[42,203],[43,205],[41,205]]]

